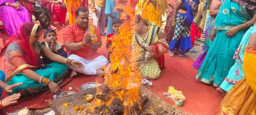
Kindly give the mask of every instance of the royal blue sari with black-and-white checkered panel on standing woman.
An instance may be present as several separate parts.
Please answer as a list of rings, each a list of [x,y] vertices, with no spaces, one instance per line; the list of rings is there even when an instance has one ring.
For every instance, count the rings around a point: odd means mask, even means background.
[[[182,14],[177,12],[176,26],[174,29],[173,38],[169,44],[169,50],[173,51],[175,48],[179,48],[179,53],[187,53],[191,48],[190,28],[194,20],[194,14],[197,9],[197,3],[195,0],[182,0],[185,3],[187,13]],[[179,1],[177,1],[179,2]]]

